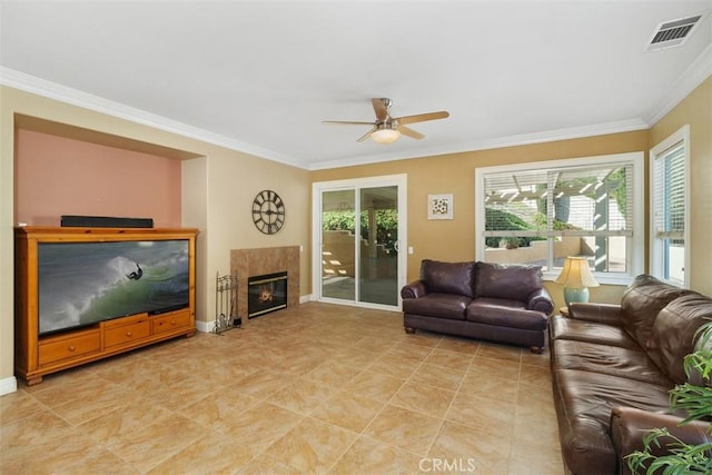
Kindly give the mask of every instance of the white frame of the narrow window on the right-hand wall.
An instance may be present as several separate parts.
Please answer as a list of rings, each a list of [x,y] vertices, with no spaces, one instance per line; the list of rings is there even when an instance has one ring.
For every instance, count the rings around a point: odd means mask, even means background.
[[[685,258],[684,258],[684,287],[690,285],[690,126],[683,126],[673,132],[670,137],[654,146],[650,150],[650,274],[660,278],[661,280],[669,281],[674,285],[681,285],[678,280],[669,280],[664,277],[664,264],[663,264],[663,245],[662,239],[657,238],[657,230],[655,229],[655,198],[659,190],[655,187],[655,160],[664,155],[671,147],[674,147],[678,142],[682,141],[684,150],[684,232],[683,240],[685,243]]]

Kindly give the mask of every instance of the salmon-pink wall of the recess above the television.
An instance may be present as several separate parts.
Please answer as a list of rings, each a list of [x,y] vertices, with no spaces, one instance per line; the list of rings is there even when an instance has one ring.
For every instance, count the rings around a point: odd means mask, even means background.
[[[154,218],[181,226],[179,160],[17,129],[16,219],[58,226],[61,215]]]

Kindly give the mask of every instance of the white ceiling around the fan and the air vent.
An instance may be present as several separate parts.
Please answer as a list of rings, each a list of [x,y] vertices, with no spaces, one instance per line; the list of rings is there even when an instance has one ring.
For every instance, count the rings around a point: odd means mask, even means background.
[[[318,169],[644,129],[712,73],[688,1],[0,1],[0,82]],[[424,140],[356,139],[372,97]]]

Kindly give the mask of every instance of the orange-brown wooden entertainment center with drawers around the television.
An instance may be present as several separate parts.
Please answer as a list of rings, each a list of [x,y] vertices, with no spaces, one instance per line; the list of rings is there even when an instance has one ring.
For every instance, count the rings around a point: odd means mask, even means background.
[[[196,331],[194,228],[16,228],[14,369],[28,385],[44,375]],[[40,335],[38,247],[42,243],[188,243],[188,305],[166,313],[125,315]],[[140,270],[140,269],[139,269]],[[129,277],[129,276],[127,276]],[[129,277],[131,278],[131,277]],[[134,276],[140,279],[141,276]]]

